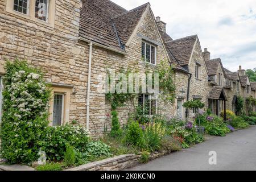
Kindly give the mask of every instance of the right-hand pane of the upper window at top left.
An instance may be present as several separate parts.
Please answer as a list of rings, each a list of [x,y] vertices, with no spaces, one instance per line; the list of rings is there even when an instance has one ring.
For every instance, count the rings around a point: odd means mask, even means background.
[[[47,22],[48,0],[36,0],[35,18]]]

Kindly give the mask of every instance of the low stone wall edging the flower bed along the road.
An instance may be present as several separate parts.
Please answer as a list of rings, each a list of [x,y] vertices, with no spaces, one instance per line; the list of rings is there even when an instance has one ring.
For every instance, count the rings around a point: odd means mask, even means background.
[[[170,152],[154,152],[150,155],[150,160],[159,158],[160,156],[166,154],[170,154]],[[64,171],[119,171],[122,169],[137,166],[139,164],[139,158],[141,158],[141,155],[119,155],[114,156],[113,158],[108,158],[97,162],[84,164],[75,168],[65,169]]]

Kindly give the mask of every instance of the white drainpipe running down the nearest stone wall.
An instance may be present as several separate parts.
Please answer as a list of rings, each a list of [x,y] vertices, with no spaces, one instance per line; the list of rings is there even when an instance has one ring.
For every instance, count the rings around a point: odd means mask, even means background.
[[[86,102],[86,129],[89,131],[89,109],[90,109],[90,76],[92,69],[92,46],[93,43],[89,43],[89,68],[88,68],[88,83],[87,83],[87,102]]]

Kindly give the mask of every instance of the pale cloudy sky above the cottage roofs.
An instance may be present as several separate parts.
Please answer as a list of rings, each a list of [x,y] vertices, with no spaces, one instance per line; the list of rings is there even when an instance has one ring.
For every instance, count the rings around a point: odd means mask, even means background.
[[[150,2],[172,39],[199,36],[211,58],[230,71],[256,68],[255,0],[112,0],[126,10]]]

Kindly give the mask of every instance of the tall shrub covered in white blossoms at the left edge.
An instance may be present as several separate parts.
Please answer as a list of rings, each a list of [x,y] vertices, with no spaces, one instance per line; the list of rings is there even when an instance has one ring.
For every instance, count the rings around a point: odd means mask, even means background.
[[[38,141],[48,125],[50,90],[42,72],[24,60],[7,61],[5,70],[1,157],[9,163],[30,163],[38,159]]]

